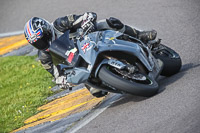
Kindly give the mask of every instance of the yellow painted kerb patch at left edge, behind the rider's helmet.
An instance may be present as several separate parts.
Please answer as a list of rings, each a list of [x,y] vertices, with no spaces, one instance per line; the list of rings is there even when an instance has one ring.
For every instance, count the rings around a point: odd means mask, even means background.
[[[28,42],[23,34],[0,38],[0,55],[11,52],[12,50],[18,49],[26,44],[28,44]]]

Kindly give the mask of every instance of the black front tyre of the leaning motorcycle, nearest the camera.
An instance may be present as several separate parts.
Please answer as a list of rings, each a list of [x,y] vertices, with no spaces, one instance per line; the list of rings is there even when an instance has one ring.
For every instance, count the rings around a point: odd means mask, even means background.
[[[120,74],[116,74],[110,66],[102,66],[98,76],[104,83],[107,84],[107,86],[114,87],[120,91],[133,95],[149,97],[158,92],[157,82],[147,75],[145,81],[136,82]]]

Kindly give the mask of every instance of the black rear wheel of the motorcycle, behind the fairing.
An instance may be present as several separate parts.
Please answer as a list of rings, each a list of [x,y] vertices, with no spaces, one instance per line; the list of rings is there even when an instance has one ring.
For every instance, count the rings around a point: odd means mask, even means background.
[[[153,55],[164,64],[160,75],[172,76],[180,71],[182,66],[181,58],[173,49],[160,44],[158,49],[153,50]]]

